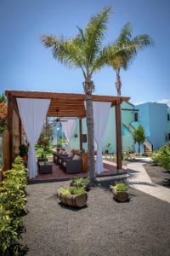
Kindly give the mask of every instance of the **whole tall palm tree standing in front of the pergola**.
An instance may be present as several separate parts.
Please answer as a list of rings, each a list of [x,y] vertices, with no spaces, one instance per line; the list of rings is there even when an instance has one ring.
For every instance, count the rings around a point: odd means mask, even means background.
[[[104,8],[100,14],[94,15],[88,26],[82,30],[77,27],[78,34],[69,40],[56,38],[52,35],[42,35],[42,44],[53,49],[54,58],[67,67],[82,69],[84,82],[82,83],[86,100],[87,127],[88,127],[88,155],[89,177],[95,181],[94,168],[94,113],[92,94],[94,91],[93,73],[105,66],[108,51],[102,47],[107,22],[111,13],[110,8]],[[114,50],[113,50],[114,52]]]

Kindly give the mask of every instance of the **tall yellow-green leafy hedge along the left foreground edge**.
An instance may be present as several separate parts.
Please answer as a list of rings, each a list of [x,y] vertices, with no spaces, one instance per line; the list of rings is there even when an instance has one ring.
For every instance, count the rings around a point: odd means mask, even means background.
[[[11,170],[3,173],[0,186],[0,255],[23,255],[20,245],[26,231],[22,216],[26,211],[26,168],[20,157],[15,158]]]

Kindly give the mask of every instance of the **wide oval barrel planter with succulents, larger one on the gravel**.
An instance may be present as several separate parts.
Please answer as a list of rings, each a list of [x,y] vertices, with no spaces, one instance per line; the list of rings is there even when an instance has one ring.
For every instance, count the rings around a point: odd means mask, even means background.
[[[70,207],[84,207],[88,201],[88,193],[83,187],[60,188],[57,196],[63,204]]]

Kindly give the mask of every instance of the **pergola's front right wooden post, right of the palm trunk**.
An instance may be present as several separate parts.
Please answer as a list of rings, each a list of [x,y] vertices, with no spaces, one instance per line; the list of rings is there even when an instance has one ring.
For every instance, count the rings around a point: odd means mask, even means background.
[[[116,115],[116,166],[117,172],[122,172],[122,118],[121,102],[118,100],[115,106]]]

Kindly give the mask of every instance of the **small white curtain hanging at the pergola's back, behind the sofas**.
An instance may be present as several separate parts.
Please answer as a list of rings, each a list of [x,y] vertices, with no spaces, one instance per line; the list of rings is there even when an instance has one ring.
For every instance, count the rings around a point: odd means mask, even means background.
[[[62,122],[62,128],[67,140],[67,153],[71,154],[71,135],[74,131],[75,119],[67,119],[66,122]]]

